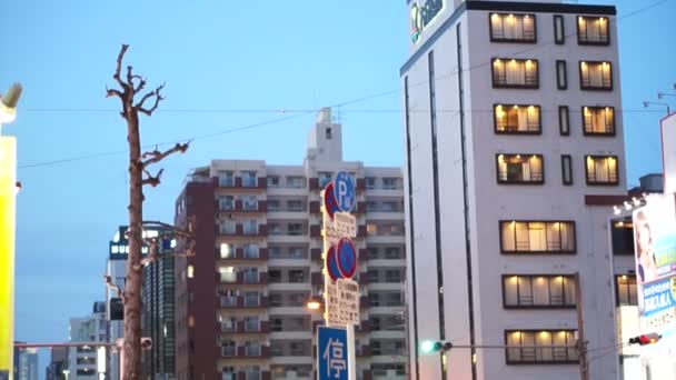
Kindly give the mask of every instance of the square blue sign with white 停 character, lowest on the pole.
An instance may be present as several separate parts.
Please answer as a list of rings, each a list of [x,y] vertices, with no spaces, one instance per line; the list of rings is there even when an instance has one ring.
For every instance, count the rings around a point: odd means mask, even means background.
[[[317,360],[319,361],[319,380],[347,380],[348,354],[347,330],[319,326]]]

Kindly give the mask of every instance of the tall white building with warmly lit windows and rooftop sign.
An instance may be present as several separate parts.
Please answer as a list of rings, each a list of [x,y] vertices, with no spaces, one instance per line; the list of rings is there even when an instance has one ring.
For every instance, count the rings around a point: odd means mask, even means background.
[[[410,378],[579,379],[580,341],[588,379],[616,379],[609,208],[598,207],[627,186],[615,7],[408,9]],[[425,340],[456,348],[425,354]]]

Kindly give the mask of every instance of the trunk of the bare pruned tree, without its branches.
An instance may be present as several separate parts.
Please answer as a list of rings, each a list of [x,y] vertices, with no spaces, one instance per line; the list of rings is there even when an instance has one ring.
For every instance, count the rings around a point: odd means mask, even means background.
[[[143,184],[139,120],[127,109],[129,139],[129,257],[125,284],[125,368],[123,380],[141,379],[141,248],[143,246]]]

